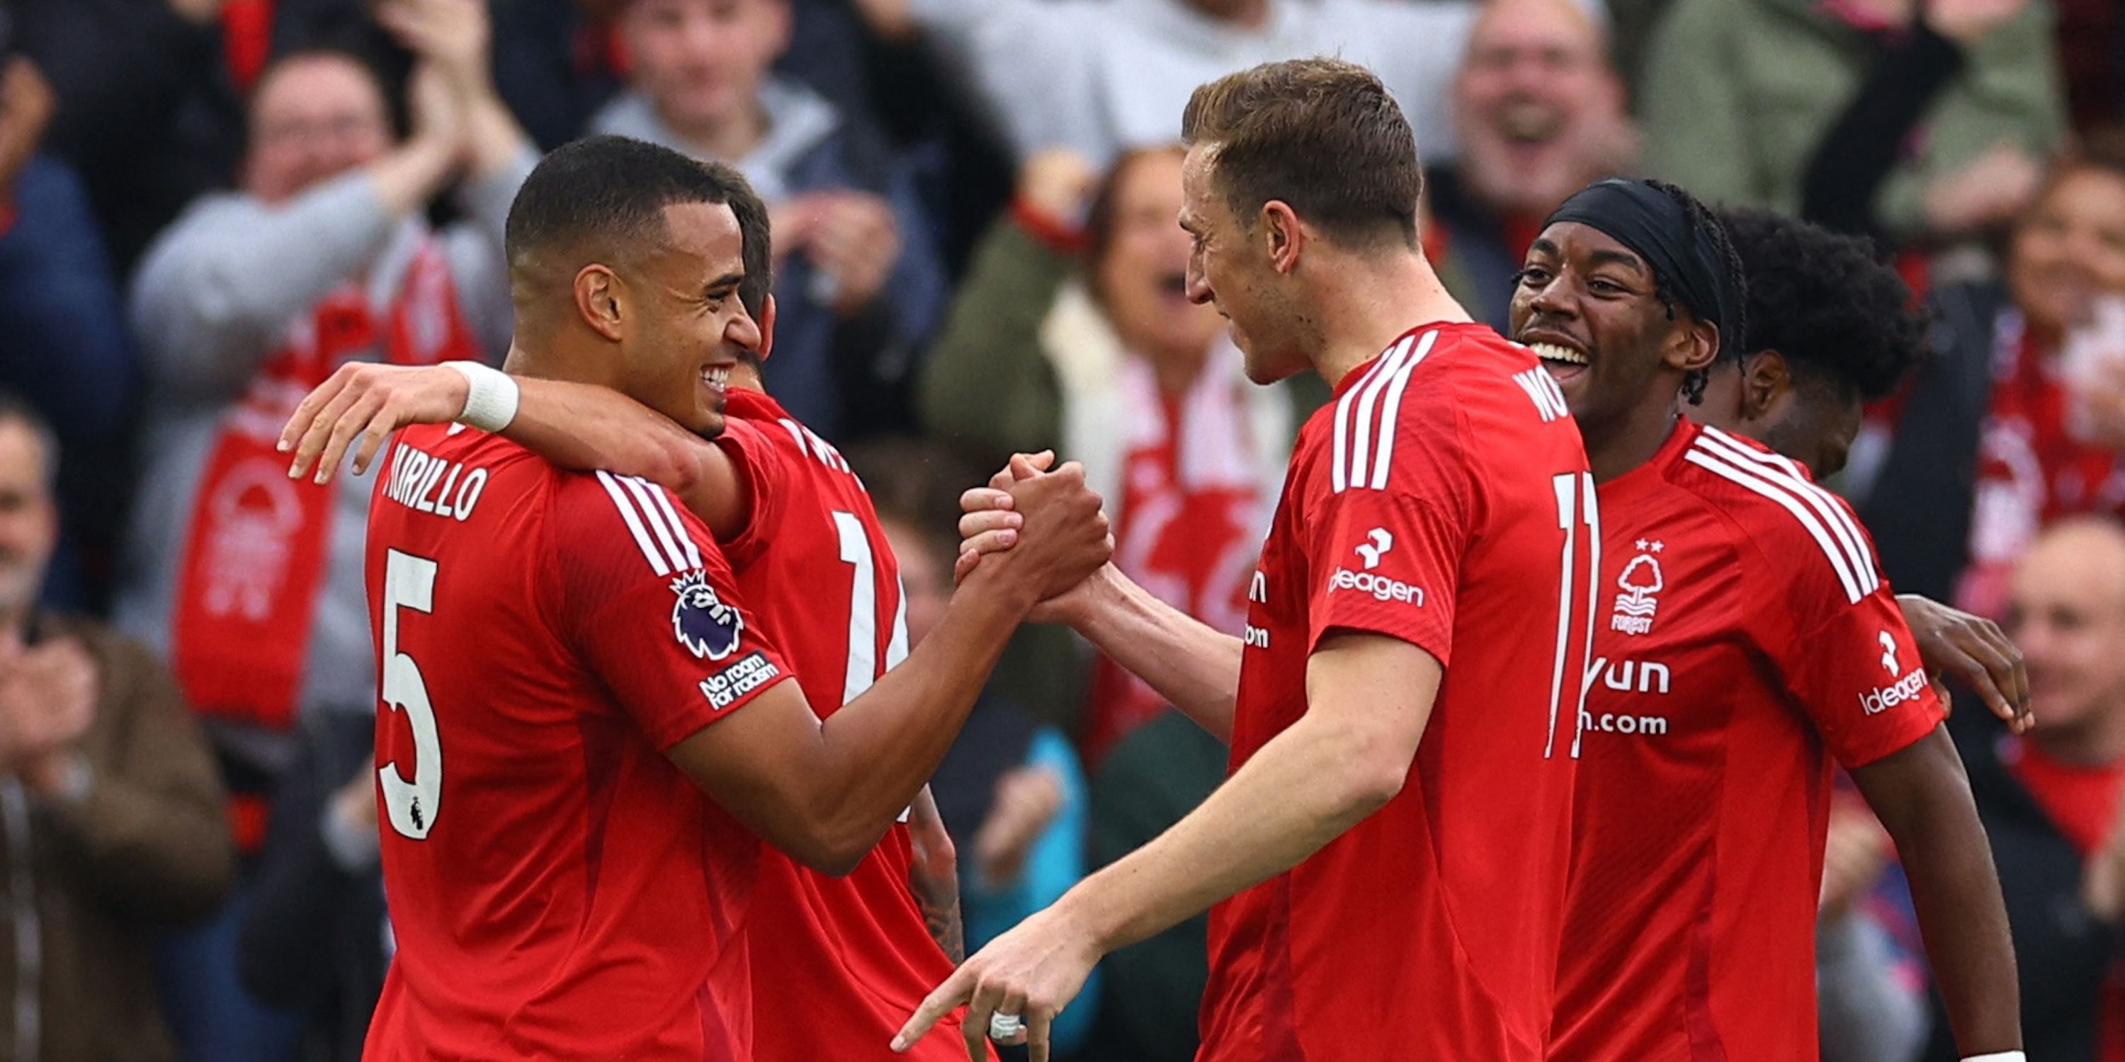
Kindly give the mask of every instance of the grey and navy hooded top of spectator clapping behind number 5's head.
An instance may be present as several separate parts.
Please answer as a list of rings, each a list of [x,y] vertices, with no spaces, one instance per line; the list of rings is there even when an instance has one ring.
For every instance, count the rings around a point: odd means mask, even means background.
[[[901,257],[871,306],[839,316],[833,285],[803,253],[776,268],[776,346],[763,370],[767,391],[818,433],[846,442],[876,429],[907,427],[916,355],[944,316],[950,282],[937,257],[931,219],[914,174],[884,138],[835,110],[797,81],[769,76],[759,91],[767,132],[742,159],[718,159],[746,174],[769,204],[808,191],[869,191],[892,204]],[[591,132],[633,136],[699,155],[627,91],[591,119]]]

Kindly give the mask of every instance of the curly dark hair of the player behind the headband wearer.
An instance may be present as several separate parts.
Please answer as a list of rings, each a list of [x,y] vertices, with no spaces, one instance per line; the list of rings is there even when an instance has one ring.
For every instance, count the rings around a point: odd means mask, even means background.
[[[1749,276],[1747,342],[1719,353],[1779,350],[1866,399],[1893,393],[1925,357],[1925,321],[1910,287],[1857,236],[1772,210],[1721,210]]]

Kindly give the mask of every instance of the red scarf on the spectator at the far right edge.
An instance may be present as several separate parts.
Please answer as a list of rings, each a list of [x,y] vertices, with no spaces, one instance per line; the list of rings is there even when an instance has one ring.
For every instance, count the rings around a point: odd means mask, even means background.
[[[1970,569],[1955,590],[1970,612],[1998,616],[2006,573],[2036,533],[2082,512],[2125,512],[2116,450],[2066,429],[2068,387],[2055,346],[2040,346],[2014,310],[1993,336],[1993,391],[1978,438]]]

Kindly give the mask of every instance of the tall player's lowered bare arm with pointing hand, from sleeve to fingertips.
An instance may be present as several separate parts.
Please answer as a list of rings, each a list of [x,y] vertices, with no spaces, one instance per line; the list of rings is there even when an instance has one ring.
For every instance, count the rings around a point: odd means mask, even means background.
[[[1048,1028],[1101,956],[1296,867],[1400,792],[1445,669],[1388,635],[1337,633],[1307,665],[1307,714],[1203,807],[1054,907],[990,941],[937,986],[892,1047],[967,1005],[978,1047],[994,1013],[1024,1015],[1035,1062]]]

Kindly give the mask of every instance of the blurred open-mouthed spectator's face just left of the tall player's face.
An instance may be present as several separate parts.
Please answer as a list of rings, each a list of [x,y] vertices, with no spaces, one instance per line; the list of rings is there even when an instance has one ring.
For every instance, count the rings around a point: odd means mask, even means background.
[[[1182,210],[1182,151],[1122,159],[1107,198],[1092,276],[1116,331],[1150,359],[1201,359],[1220,321],[1188,299],[1190,240],[1173,223]]]

